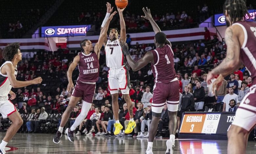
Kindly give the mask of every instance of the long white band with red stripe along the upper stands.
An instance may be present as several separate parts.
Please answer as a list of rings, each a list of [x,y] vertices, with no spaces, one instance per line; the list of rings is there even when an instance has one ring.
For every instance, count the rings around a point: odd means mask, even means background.
[[[209,28],[210,35],[216,35],[216,30],[214,28]],[[181,41],[192,41],[204,39],[204,28],[193,28],[193,29],[178,29],[178,30],[166,30],[163,31],[167,39],[170,42],[181,42]],[[132,42],[132,45],[135,45],[137,42],[139,44],[149,44],[154,43],[154,32],[144,32],[144,33],[131,33],[129,34]],[[75,36],[67,37],[67,47],[68,48],[80,48],[80,41],[88,39],[95,44],[98,41],[99,36]],[[52,50],[55,50],[56,43],[54,39],[48,39],[49,44]],[[35,39],[1,39],[0,48],[4,48],[7,44],[12,42],[20,42],[21,49],[44,49],[50,51],[48,40],[46,38],[35,38]],[[57,39],[56,39],[57,40]],[[54,48],[55,47],[55,48]]]

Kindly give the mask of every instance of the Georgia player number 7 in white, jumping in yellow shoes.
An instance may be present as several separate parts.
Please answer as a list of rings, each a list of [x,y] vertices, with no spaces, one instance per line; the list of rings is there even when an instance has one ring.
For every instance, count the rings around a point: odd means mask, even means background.
[[[120,17],[120,26],[121,26],[120,33],[116,28],[109,29],[108,34],[110,39],[107,40],[106,38],[104,41],[104,46],[106,51],[106,64],[107,64],[107,67],[109,67],[108,88],[112,96],[112,106],[113,106],[114,117],[116,120],[114,124],[115,135],[119,134],[120,130],[123,129],[123,126],[119,123],[119,119],[118,119],[118,110],[119,110],[118,90],[121,90],[121,93],[123,94],[124,100],[127,103],[128,111],[130,114],[130,121],[127,124],[127,128],[124,132],[126,134],[129,134],[136,127],[136,123],[133,120],[132,101],[129,96],[129,91],[131,88],[129,71],[126,66],[126,62],[122,54],[120,43],[119,43],[121,40],[126,41],[125,22],[123,19],[124,9],[125,8],[123,9],[117,8],[119,17]],[[118,35],[120,35],[119,39],[118,39]]]

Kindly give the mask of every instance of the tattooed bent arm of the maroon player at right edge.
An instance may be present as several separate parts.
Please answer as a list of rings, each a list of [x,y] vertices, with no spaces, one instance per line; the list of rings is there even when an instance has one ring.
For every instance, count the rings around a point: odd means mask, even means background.
[[[225,42],[227,45],[227,54],[222,63],[214,68],[207,75],[207,83],[211,84],[211,79],[214,78],[215,75],[221,74],[224,78],[228,74],[235,71],[237,68],[241,66],[240,62],[240,43],[238,40],[239,32],[243,32],[240,26],[232,26],[228,27],[225,32]],[[244,32],[243,32],[244,33]],[[219,80],[222,81],[222,80]]]

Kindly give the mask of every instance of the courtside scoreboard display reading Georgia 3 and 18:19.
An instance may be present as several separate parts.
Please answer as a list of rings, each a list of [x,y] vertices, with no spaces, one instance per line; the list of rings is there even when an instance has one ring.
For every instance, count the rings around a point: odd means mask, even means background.
[[[185,112],[180,134],[226,135],[235,118],[235,112]]]

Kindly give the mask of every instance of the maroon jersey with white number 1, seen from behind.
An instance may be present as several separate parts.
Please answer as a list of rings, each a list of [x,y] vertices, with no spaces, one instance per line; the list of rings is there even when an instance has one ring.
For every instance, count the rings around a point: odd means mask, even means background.
[[[151,67],[155,77],[155,83],[169,83],[177,77],[176,71],[174,70],[174,53],[169,45],[164,45],[162,48],[156,48],[150,52],[154,55],[155,64],[151,63]]]

